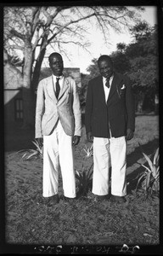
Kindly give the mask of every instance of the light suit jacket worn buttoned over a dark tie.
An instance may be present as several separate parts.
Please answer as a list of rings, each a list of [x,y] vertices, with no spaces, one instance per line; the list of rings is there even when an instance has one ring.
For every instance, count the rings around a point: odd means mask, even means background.
[[[50,135],[58,119],[69,136],[82,136],[82,113],[74,79],[65,78],[56,99],[53,77],[42,79],[37,88],[35,137]]]

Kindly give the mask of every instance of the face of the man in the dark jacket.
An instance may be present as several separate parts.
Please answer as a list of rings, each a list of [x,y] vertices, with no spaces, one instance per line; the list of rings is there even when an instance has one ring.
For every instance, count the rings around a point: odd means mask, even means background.
[[[113,64],[108,60],[100,61],[98,63],[98,69],[99,69],[100,74],[105,79],[110,79],[110,77],[113,74]]]

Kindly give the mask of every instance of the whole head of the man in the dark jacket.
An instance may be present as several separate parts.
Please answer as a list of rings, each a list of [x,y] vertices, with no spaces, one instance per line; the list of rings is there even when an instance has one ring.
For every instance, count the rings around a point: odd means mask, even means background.
[[[98,58],[98,69],[104,78],[110,79],[113,74],[113,62],[109,55],[101,55]]]

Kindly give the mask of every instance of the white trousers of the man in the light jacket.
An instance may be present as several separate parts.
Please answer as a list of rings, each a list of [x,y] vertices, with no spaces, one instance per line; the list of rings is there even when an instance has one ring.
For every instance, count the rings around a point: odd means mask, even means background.
[[[66,197],[76,197],[76,179],[72,137],[65,134],[60,124],[53,133],[43,136],[43,193],[44,197],[58,194],[59,170]]]

